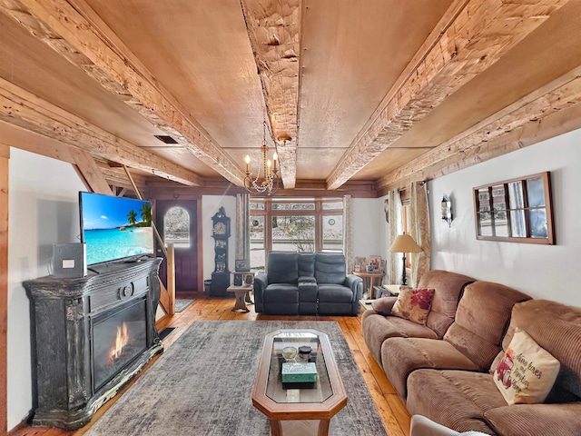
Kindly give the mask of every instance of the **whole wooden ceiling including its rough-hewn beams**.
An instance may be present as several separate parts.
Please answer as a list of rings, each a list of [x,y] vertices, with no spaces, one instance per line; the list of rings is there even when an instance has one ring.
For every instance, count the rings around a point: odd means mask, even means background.
[[[242,186],[263,120],[289,194],[381,195],[581,126],[581,0],[0,0],[0,11],[0,142],[91,154],[113,186],[119,164],[144,184]]]

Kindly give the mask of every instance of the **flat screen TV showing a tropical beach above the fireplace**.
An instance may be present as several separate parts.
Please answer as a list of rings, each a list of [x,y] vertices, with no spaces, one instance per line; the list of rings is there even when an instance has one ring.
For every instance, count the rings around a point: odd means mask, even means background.
[[[79,211],[87,265],[153,254],[151,202],[80,192]]]

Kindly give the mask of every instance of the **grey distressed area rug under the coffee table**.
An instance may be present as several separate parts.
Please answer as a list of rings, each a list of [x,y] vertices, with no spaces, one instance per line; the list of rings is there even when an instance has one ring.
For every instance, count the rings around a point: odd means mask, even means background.
[[[193,322],[85,434],[268,436],[269,422],[251,400],[262,342],[296,328],[329,335],[348,394],[329,434],[386,435],[339,324],[281,321]]]

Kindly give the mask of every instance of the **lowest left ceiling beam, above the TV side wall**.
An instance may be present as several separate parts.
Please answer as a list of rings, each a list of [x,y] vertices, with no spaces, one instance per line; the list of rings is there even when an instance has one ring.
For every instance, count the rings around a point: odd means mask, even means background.
[[[199,175],[149,153],[0,78],[0,121],[83,149],[95,157],[188,185]],[[11,144],[18,147],[18,144]]]

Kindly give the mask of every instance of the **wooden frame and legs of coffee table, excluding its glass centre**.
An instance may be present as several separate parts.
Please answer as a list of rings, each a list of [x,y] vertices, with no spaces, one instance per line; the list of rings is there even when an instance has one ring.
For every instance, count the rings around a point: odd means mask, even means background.
[[[322,402],[276,402],[266,395],[266,388],[271,369],[272,346],[275,336],[284,332],[312,333],[319,337],[320,348],[323,353],[327,372],[329,374],[331,391],[330,397]],[[258,374],[252,391],[252,404],[264,413],[271,423],[271,435],[281,436],[281,421],[291,420],[318,420],[319,436],[329,434],[330,419],[347,404],[347,393],[341,381],[339,368],[330,348],[327,334],[311,329],[278,330],[271,332],[264,338],[261,361]]]

